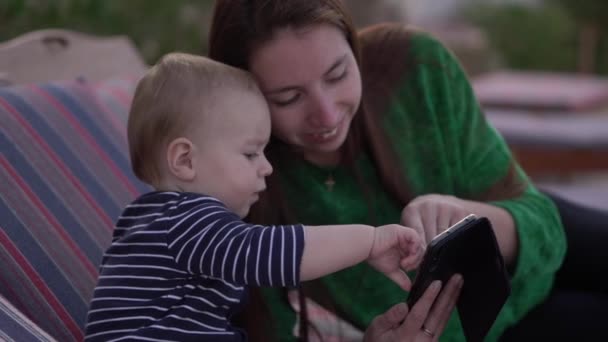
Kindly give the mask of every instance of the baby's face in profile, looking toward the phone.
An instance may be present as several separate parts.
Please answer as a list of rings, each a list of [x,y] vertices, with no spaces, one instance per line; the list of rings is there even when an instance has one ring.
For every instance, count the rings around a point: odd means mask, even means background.
[[[192,139],[197,153],[192,185],[244,217],[272,173],[264,155],[270,138],[268,106],[261,94],[233,92],[208,114],[205,127]]]

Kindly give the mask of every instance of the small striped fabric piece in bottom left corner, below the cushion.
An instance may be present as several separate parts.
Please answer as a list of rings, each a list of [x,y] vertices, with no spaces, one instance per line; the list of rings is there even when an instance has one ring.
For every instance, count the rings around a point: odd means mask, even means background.
[[[6,298],[0,297],[0,340],[55,341],[17,310]]]

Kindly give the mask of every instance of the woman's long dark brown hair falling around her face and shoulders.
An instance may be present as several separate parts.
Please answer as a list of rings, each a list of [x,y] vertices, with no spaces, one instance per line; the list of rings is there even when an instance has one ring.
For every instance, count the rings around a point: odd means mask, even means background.
[[[412,198],[389,138],[380,126],[379,115],[388,108],[395,87],[407,75],[415,61],[408,60],[409,31],[403,25],[378,25],[357,34],[352,19],[341,0],[217,0],[209,36],[209,56],[215,60],[242,69],[249,69],[249,57],[256,47],[268,42],[282,28],[305,28],[316,24],[329,24],[344,33],[359,65],[363,82],[361,106],[353,118],[345,144],[341,148],[341,163],[353,165],[361,150],[369,153],[378,169],[384,189],[397,203],[405,206]],[[267,156],[274,166],[267,179],[267,190],[252,208],[249,220],[262,224],[298,222],[283,195],[279,179],[281,170],[296,158],[290,147],[272,139]],[[355,173],[362,191],[366,185],[356,168]],[[507,177],[510,178],[510,177]],[[371,202],[371,199],[370,199]],[[330,310],[336,311],[327,291],[319,282],[309,282],[306,293]],[[308,320],[304,291],[299,289],[300,337],[306,341]],[[252,341],[268,341],[271,327],[259,324],[261,317],[270,317],[258,289],[252,289],[250,303],[241,316],[242,326]],[[339,313],[339,312],[338,312]],[[344,317],[342,317],[344,318]],[[253,320],[255,320],[256,323]]]

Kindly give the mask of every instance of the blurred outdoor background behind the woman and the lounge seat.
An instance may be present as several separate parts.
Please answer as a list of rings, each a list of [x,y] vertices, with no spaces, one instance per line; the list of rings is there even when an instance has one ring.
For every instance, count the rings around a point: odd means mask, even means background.
[[[398,21],[443,41],[531,177],[608,208],[608,1],[345,1],[358,26]],[[48,28],[125,35],[152,64],[169,51],[206,53],[212,7],[211,0],[0,0],[0,44]]]

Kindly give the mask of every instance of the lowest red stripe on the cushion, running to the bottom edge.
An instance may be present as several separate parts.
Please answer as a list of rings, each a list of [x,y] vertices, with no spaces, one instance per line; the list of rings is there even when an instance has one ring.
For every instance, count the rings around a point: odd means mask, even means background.
[[[4,160],[0,160],[4,161]],[[1,228],[1,227],[0,227]],[[0,244],[9,251],[9,253],[15,258],[15,261],[21,266],[21,269],[27,274],[28,278],[31,279],[32,284],[38,289],[39,293],[44,297],[46,302],[61,318],[61,321],[65,323],[66,328],[78,341],[81,341],[84,336],[82,330],[76,322],[72,319],[70,314],[65,310],[61,302],[55,297],[53,292],[46,286],[44,280],[38,275],[36,270],[32,268],[27,259],[21,254],[18,248],[12,244],[10,238],[4,233],[3,229],[0,229]]]

